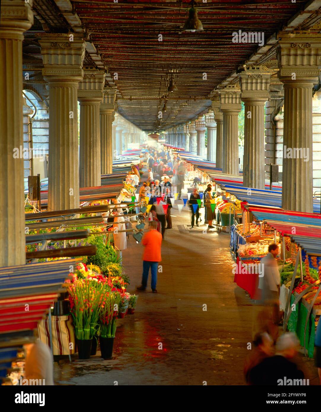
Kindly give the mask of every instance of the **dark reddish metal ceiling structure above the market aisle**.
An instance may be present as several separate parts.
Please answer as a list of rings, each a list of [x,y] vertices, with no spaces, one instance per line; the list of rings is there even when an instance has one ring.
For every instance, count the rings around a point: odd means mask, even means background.
[[[315,23],[319,3],[199,0],[204,30],[191,33],[183,30],[189,0],[34,0],[37,19],[26,32],[23,63],[41,68],[38,33],[83,33],[85,64],[106,67],[119,113],[154,131],[167,98],[161,122],[166,129],[206,112],[213,91],[237,81],[240,65],[276,68],[275,33]],[[264,33],[264,44],[233,43],[238,30]],[[171,79],[178,90],[168,94]]]

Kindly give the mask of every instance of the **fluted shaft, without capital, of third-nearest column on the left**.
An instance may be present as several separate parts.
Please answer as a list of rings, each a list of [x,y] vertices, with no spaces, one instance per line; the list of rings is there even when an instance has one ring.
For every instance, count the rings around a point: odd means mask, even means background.
[[[101,185],[99,105],[101,98],[80,101],[80,187]]]

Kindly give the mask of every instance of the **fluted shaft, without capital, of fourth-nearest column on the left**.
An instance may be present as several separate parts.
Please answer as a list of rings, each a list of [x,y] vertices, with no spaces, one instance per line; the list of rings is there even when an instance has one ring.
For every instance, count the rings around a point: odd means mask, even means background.
[[[112,111],[100,110],[101,174],[112,173]]]

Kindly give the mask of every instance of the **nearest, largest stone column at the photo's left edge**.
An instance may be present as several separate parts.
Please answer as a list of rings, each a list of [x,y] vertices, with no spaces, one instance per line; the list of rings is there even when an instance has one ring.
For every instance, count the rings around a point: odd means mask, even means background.
[[[0,26],[0,267],[24,265],[22,40],[33,24],[32,0],[1,2]]]

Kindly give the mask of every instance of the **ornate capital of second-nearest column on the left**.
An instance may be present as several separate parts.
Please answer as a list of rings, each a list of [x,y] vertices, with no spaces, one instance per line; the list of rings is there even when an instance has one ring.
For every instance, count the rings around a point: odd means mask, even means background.
[[[39,35],[44,68],[42,75],[47,82],[59,82],[68,86],[68,82],[80,82],[85,56],[85,42],[79,34],[42,33]],[[62,83],[61,83],[62,82]],[[66,83],[66,84],[64,84]]]

